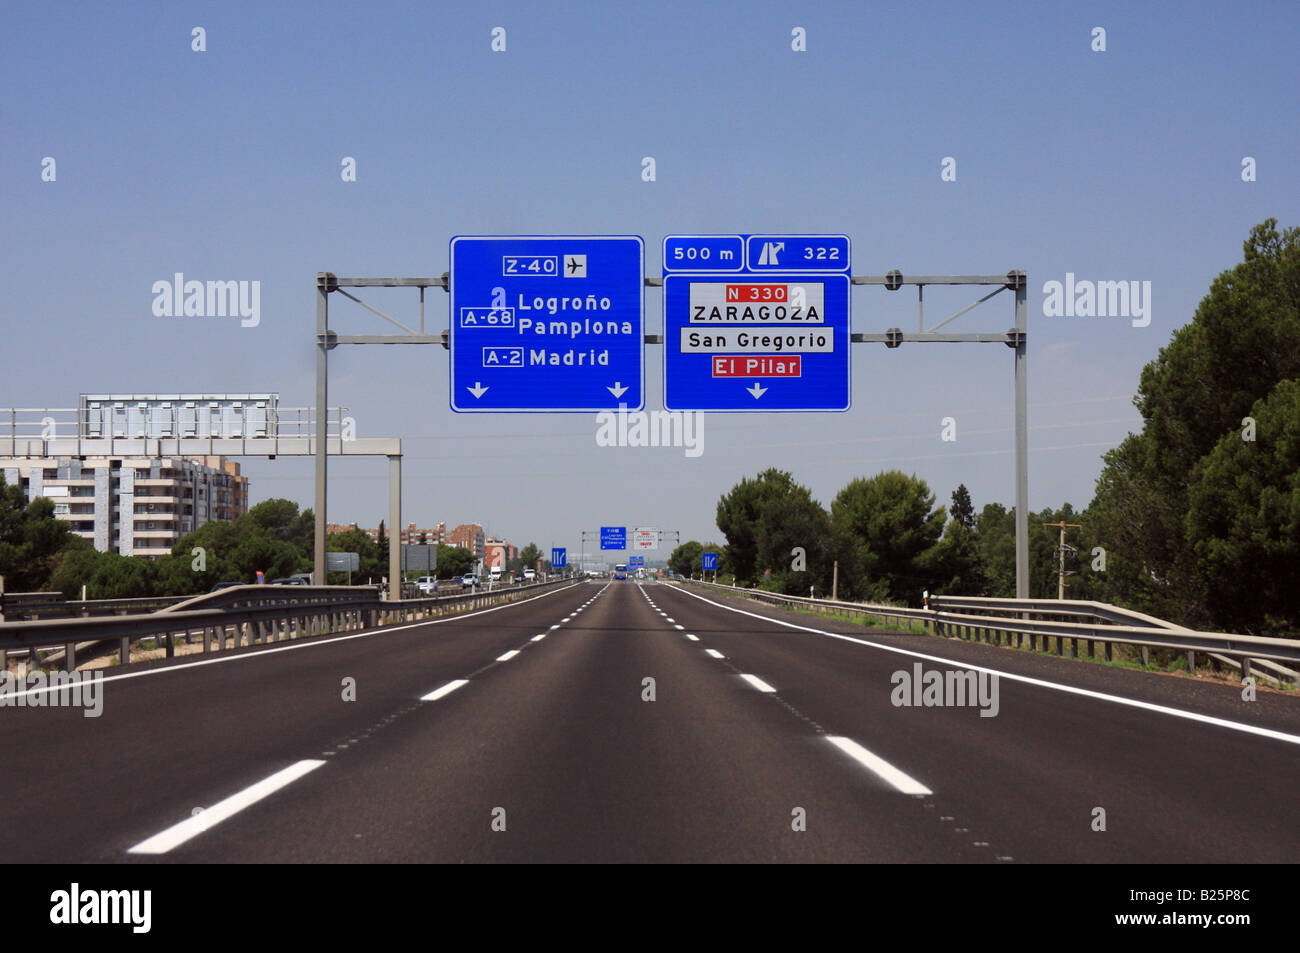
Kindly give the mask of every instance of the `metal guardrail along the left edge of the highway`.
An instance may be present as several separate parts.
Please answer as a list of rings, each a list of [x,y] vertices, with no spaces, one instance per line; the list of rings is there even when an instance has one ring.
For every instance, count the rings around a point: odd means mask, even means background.
[[[514,602],[540,592],[575,585],[550,580],[462,595],[430,595],[384,601],[374,586],[248,585],[196,595],[159,612],[92,619],[40,619],[0,623],[0,650],[26,650],[32,664],[61,664],[72,671],[78,654],[118,651],[118,664],[131,657],[131,645],[159,640],[166,658],[176,657],[176,640],[203,638],[203,651],[265,645],[290,638],[356,632],[402,621],[454,615],[484,606]],[[56,651],[44,659],[40,650]]]

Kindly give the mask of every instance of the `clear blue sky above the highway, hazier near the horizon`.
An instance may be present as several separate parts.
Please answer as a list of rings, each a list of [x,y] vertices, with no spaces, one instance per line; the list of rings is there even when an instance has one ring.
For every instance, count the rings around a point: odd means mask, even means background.
[[[1252,225],[1300,222],[1297,26],[1292,3],[13,8],[0,406],[83,391],[306,406],[316,273],[441,274],[456,234],[638,234],[656,274],[666,234],[845,233],[855,274],[1028,272],[1031,506],[1082,507],[1104,450],[1140,425],[1143,364]],[[174,272],[260,281],[260,325],[156,317],[151,286]],[[1045,317],[1043,285],[1066,272],[1150,281],[1150,325]],[[446,295],[429,295],[441,330]],[[361,296],[415,320],[413,291]],[[976,296],[930,289],[927,312]],[[660,291],[645,302],[658,330]],[[1011,321],[1000,295],[952,328]],[[337,296],[332,325],[387,329]],[[914,291],[854,290],[855,330],[896,325],[915,326]],[[651,410],[660,360],[646,348]],[[599,447],[592,415],[454,415],[441,347],[339,348],[330,385],[359,433],[403,438],[406,519],[482,521],[520,545],[575,547],[601,524],[716,536],[719,495],[771,465],[827,504],[889,468],[939,502],[958,482],[976,506],[1013,499],[1000,345],[858,345],[850,412],[708,415],[694,459]],[[311,503],[308,460],[244,468],[255,501]],[[373,525],[385,499],[382,460],[332,467],[332,520]]]

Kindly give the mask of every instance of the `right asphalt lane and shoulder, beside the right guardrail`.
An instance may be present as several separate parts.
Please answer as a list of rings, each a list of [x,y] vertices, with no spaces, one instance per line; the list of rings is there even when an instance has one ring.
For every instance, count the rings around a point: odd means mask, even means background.
[[[658,601],[728,660],[828,731],[863,738],[935,789],[939,818],[1018,862],[1292,862],[1300,826],[1300,705],[1239,686],[1091,666],[996,646],[889,634],[712,592]],[[703,598],[699,598],[703,597]],[[723,606],[741,610],[729,611]],[[850,633],[898,654],[767,623]],[[897,671],[954,663],[1002,671],[998,712],[896,707]],[[1087,697],[1008,676],[1079,686]],[[1292,741],[1124,706],[1104,696],[1284,732]],[[1095,831],[1095,810],[1106,829]]]

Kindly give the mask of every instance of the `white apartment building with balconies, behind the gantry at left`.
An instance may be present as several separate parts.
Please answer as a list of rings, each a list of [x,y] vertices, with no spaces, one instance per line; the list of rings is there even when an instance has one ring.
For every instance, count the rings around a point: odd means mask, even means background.
[[[101,553],[156,559],[204,523],[248,511],[248,478],[224,456],[0,458],[5,482],[48,497]]]

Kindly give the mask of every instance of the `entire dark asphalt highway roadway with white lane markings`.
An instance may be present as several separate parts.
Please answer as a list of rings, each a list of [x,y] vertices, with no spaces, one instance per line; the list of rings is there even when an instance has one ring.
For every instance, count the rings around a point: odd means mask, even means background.
[[[896,705],[916,664],[997,672],[997,714]],[[103,692],[100,718],[0,709],[9,862],[1231,863],[1300,840],[1294,698],[668,584]]]

